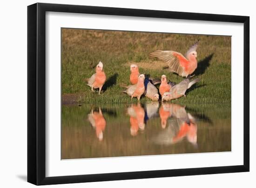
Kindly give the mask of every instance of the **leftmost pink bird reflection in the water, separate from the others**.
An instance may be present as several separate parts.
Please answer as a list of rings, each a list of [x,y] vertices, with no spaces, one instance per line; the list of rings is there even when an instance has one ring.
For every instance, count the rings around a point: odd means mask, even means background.
[[[90,114],[88,114],[88,120],[90,121],[93,128],[96,129],[96,135],[99,139],[99,141],[103,140],[103,131],[106,127],[106,120],[103,117],[103,114],[101,112],[101,108],[99,108],[99,112],[91,111]]]

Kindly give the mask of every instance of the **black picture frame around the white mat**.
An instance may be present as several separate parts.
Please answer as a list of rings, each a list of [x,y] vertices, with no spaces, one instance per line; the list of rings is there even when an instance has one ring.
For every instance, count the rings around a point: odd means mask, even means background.
[[[243,165],[46,177],[46,12],[243,23]],[[36,3],[27,7],[27,181],[35,185],[249,171],[249,17]]]

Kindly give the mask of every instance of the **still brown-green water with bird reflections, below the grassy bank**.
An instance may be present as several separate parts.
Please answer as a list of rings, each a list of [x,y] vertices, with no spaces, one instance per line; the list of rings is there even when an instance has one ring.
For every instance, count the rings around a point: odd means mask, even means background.
[[[62,105],[61,158],[231,151],[230,105]]]

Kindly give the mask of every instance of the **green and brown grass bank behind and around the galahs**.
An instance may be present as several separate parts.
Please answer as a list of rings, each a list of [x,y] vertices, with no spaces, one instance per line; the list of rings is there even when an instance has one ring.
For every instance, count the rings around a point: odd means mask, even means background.
[[[201,81],[187,91],[187,97],[173,102],[231,103],[231,37],[82,29],[62,29],[61,32],[62,96],[74,94],[78,102],[85,103],[136,102],[123,94],[124,89],[118,85],[129,84],[131,62],[137,63],[141,74],[150,74],[154,78],[166,74],[169,80],[178,83],[182,81],[181,76],[163,69],[159,61],[149,59],[148,54],[156,49],[184,54],[200,39],[197,48],[199,64],[194,78],[199,77]],[[83,80],[94,74],[100,60],[107,82],[104,93],[98,95]],[[149,99],[143,97],[141,102],[145,101]]]

